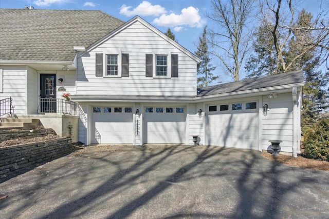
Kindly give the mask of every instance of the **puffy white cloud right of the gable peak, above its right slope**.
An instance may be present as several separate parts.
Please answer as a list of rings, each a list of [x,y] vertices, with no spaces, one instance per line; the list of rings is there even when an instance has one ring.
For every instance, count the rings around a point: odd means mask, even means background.
[[[199,9],[190,6],[188,8],[182,9],[181,14],[162,14],[159,18],[155,18],[153,20],[153,23],[159,26],[166,27],[174,27],[179,25],[202,27],[204,21],[199,15]]]

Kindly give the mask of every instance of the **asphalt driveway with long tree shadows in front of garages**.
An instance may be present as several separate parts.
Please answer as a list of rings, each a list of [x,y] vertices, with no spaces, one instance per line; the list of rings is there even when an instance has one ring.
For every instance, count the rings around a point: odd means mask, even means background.
[[[329,218],[329,172],[213,146],[89,146],[0,193],[1,218]]]

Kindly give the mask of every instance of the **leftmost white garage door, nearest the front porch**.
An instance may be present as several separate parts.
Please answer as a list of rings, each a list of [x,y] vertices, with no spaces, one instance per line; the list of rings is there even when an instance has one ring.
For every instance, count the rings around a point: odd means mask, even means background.
[[[92,144],[133,144],[132,107],[93,107]]]

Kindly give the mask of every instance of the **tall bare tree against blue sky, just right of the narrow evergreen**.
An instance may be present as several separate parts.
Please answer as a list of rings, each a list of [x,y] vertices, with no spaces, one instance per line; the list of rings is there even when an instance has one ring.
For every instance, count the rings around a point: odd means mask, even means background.
[[[251,29],[248,28],[254,0],[211,0],[212,10],[206,16],[218,26],[208,32],[211,53],[224,69],[239,81],[240,68],[249,51]]]

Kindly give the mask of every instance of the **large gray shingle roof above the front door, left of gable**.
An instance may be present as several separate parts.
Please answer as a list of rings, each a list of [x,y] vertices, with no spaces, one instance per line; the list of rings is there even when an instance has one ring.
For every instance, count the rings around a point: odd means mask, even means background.
[[[0,60],[73,61],[123,21],[98,10],[0,9]]]

